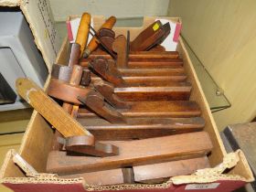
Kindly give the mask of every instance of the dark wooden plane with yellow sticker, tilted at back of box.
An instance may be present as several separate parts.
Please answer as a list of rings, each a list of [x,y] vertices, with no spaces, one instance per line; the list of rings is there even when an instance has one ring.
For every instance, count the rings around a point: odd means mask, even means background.
[[[162,23],[157,20],[134,38],[130,48],[131,50],[148,50],[163,41],[169,33],[169,23],[163,26]]]

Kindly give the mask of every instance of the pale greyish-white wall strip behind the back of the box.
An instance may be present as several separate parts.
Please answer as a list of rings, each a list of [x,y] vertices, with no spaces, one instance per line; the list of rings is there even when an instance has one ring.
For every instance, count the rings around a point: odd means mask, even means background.
[[[138,17],[166,16],[169,0],[49,0],[55,21],[70,15]]]

